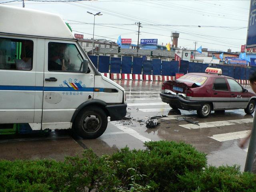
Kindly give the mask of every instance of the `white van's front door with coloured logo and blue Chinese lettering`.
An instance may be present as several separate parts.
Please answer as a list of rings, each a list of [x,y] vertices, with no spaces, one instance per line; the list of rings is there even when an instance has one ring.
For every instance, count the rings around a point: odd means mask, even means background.
[[[78,106],[93,98],[94,71],[82,72],[85,57],[76,42],[46,40],[42,129],[71,128]]]

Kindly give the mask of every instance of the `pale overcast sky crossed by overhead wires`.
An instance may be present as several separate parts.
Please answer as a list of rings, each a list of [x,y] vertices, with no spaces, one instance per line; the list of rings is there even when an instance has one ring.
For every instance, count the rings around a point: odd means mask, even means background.
[[[13,0],[0,0],[10,2]],[[70,0],[71,1],[71,0]],[[22,7],[22,2],[4,5]],[[74,33],[115,41],[118,36],[140,39],[156,38],[158,44],[171,42],[172,32],[179,32],[178,46],[194,49],[194,43],[208,50],[240,51],[246,43],[250,0],[92,0],[83,2],[33,2],[25,0],[25,8],[59,14],[70,23]],[[47,22],[47,21],[46,21]],[[201,26],[201,27],[198,27]],[[80,33],[79,33],[80,32]]]

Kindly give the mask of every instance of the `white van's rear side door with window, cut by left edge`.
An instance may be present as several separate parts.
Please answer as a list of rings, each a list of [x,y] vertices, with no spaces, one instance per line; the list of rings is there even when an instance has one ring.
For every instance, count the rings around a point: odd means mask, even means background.
[[[0,36],[0,123],[34,122],[36,47],[36,38]]]

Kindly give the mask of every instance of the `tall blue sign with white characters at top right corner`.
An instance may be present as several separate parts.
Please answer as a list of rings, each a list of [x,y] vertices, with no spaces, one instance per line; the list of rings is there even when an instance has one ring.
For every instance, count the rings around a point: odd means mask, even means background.
[[[246,48],[256,47],[256,0],[250,1]]]

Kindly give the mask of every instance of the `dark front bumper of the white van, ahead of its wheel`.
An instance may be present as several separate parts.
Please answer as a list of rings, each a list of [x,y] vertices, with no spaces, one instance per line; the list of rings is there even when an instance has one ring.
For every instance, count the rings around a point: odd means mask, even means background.
[[[122,120],[126,116],[127,104],[116,104],[116,105],[106,105],[106,109],[110,114],[110,121]]]

